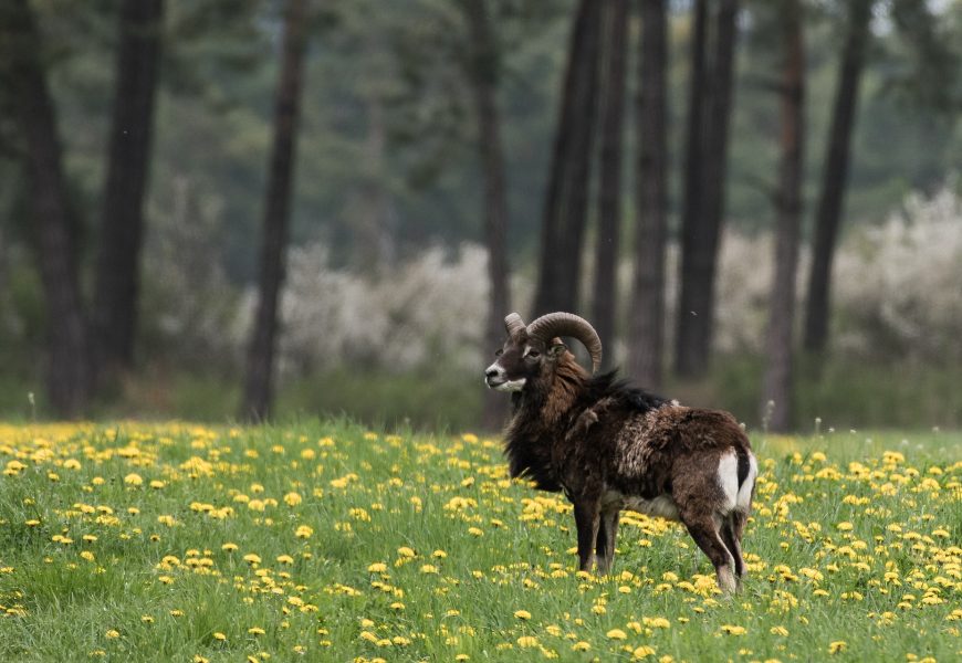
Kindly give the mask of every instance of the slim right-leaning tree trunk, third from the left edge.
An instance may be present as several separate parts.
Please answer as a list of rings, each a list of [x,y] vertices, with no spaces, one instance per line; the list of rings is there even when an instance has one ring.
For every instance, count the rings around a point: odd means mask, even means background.
[[[261,245],[260,299],[248,349],[241,415],[263,420],[273,400],[273,367],[278,335],[278,302],[284,283],[285,248],[297,120],[306,44],[306,0],[289,0],[284,15],[281,80],[274,108],[274,138],[268,172],[264,236]]]

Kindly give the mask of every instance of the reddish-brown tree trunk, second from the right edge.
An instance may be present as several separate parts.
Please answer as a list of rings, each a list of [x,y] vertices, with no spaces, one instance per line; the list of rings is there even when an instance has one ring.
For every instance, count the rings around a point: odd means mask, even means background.
[[[798,235],[802,223],[802,166],[804,146],[805,46],[799,0],[784,0],[782,8],[785,61],[782,72],[782,162],[775,233],[775,278],[768,304],[767,364],[762,388],[762,415],[768,430],[785,432],[792,423],[793,329]]]

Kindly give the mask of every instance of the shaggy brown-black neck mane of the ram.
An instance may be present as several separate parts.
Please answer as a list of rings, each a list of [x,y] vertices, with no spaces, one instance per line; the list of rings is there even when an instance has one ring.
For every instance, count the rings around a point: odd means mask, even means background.
[[[563,420],[571,418],[572,408],[588,379],[574,357],[565,355],[550,382],[538,380],[514,396],[514,415],[504,438],[504,454],[511,476],[535,482],[542,491],[560,491],[552,470],[552,443],[564,440]]]

